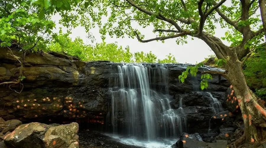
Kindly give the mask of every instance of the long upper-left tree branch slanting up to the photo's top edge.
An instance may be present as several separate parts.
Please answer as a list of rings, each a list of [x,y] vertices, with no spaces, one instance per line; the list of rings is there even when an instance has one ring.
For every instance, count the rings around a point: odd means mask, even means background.
[[[133,7],[135,7],[136,9],[140,10],[141,12],[146,13],[147,15],[154,15],[153,12],[150,12],[149,10],[146,10],[140,6],[138,6],[137,4],[134,3],[134,1],[132,0],[126,0],[129,4],[131,4]],[[170,24],[174,25],[176,27],[177,30],[179,30],[180,32],[183,32],[184,29],[182,29],[175,21],[173,21],[172,19],[163,17],[163,15],[155,15],[156,18],[169,22]]]

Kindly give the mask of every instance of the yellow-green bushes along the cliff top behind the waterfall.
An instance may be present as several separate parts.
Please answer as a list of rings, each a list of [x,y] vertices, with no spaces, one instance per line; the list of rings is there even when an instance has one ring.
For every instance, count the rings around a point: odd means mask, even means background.
[[[157,61],[157,56],[152,52],[131,53],[128,46],[123,49],[117,43],[107,44],[102,42],[91,46],[85,44],[79,37],[72,41],[69,33],[63,33],[61,29],[56,41],[49,46],[49,50],[78,57],[83,61],[108,60],[113,62],[177,63],[175,57],[171,54],[167,55],[165,59],[158,59]]]

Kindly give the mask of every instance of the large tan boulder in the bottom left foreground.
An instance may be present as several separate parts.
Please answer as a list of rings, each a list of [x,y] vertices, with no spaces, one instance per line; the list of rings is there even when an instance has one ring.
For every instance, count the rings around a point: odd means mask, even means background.
[[[4,142],[15,148],[79,148],[78,130],[77,123],[60,126],[28,123],[7,134]]]

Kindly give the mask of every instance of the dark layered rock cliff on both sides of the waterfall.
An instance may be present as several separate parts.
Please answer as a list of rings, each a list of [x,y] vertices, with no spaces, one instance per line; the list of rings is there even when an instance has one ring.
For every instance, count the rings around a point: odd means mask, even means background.
[[[19,76],[20,63],[11,56],[12,53],[8,49],[0,50],[0,82],[13,81]],[[13,51],[13,54],[21,56],[18,51]],[[110,70],[117,71],[117,65],[121,63],[82,62],[59,53],[28,53],[22,69],[26,77],[22,81],[23,91],[18,94],[7,86],[0,86],[0,116],[5,120],[19,119],[25,122],[76,121],[98,124],[97,127],[105,125],[106,115],[111,111],[108,86],[112,82],[109,78],[117,76],[111,74]],[[156,64],[144,65],[156,68]],[[200,75],[189,75],[185,83],[179,83],[178,75],[188,65],[165,65],[169,70],[169,93],[174,98],[172,106],[179,105],[176,96],[184,95],[184,110],[188,114],[191,131],[206,131],[212,113],[207,94],[197,92],[200,91]],[[206,70],[219,69],[200,67],[198,73]],[[161,85],[156,81],[153,83],[153,86]],[[207,91],[223,104],[224,92],[228,86],[225,78],[213,74]],[[11,89],[20,90],[21,87],[12,86]]]

